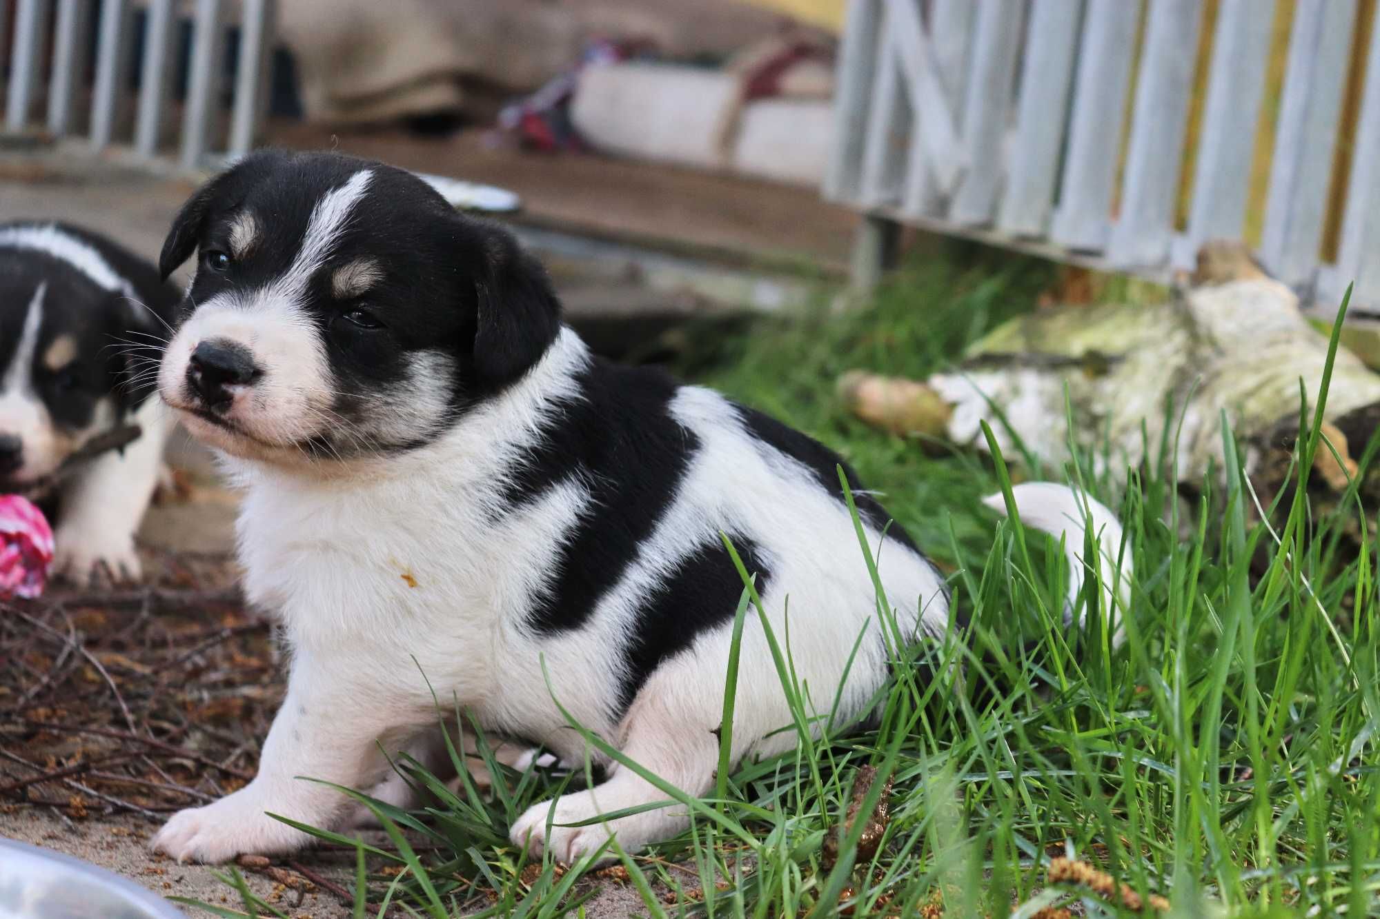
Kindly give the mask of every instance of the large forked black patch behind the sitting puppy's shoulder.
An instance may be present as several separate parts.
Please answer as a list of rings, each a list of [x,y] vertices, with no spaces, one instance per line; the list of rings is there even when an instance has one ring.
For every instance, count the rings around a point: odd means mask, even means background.
[[[680,488],[698,437],[669,414],[678,384],[667,374],[595,360],[581,397],[518,465],[504,490],[522,506],[578,476],[591,505],[567,534],[556,571],[529,624],[538,632],[580,628],[638,557]]]

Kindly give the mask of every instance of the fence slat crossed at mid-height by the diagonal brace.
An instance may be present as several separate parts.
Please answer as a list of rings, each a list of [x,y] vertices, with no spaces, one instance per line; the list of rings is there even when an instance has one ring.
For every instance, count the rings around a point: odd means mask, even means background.
[[[967,88],[967,61],[973,46],[973,22],[977,6],[970,0],[930,0],[929,51],[933,54],[934,76],[945,101],[949,123],[954,126],[955,141],[963,112],[963,94]],[[907,177],[905,210],[920,215],[938,215],[954,193],[952,188],[940,188],[940,182],[926,166],[927,150],[923,145],[925,131],[933,119],[926,119],[923,110],[916,117],[911,132],[911,171]],[[955,177],[956,181],[958,177]]]

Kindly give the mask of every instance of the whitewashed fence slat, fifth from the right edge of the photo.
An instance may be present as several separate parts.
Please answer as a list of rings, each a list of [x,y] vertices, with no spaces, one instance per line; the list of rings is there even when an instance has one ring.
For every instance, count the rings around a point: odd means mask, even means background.
[[[1087,0],[1068,152],[1050,226],[1054,241],[1070,248],[1096,251],[1107,244],[1138,7],[1127,0]]]

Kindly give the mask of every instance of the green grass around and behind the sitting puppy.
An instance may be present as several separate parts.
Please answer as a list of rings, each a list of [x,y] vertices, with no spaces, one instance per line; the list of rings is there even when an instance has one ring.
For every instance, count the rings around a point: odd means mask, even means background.
[[[1358,512],[1354,494],[1314,516],[1299,488],[1261,523],[1231,464],[1173,519],[1162,515],[1177,506],[1166,469],[1136,471],[1122,493],[1092,483],[1119,509],[1136,563],[1127,640],[1110,651],[1101,628],[1063,628],[1065,571],[1050,541],[977,504],[1009,486],[1003,464],[876,433],[838,406],[839,373],[923,375],[1028,309],[1045,280],[1010,259],[918,268],[867,312],[758,324],[716,345],[716,368],[697,362],[704,381],[839,448],[885,491],[952,571],[972,625],[962,640],[897,649],[878,729],[802,733],[796,752],[742,763],[715,798],[686,799],[694,821],[680,839],[617,853],[644,915],[912,916],[926,904],[948,916],[1064,905],[1136,915],[1087,887],[1050,885],[1057,856],[1141,897],[1163,894],[1180,916],[1380,912],[1376,559],[1369,535],[1358,557],[1336,556],[1330,538],[1339,515]],[[1300,414],[1299,469],[1328,448],[1315,411]],[[869,564],[865,545],[839,563]],[[759,626],[751,588],[738,625]],[[789,660],[778,666],[798,722],[807,719]],[[595,889],[584,867],[529,865],[504,838],[526,804],[566,780],[518,775],[480,753],[501,777],[489,793],[469,784],[451,793],[403,764],[443,803],[421,820],[379,809],[396,851],[362,854],[355,915],[379,915],[385,902],[436,919],[580,915]],[[827,840],[846,829],[862,766],[879,771],[862,813],[891,777],[890,820],[861,857],[857,821],[831,861]],[[440,851],[420,857],[397,827]],[[366,876],[366,861],[403,872]]]

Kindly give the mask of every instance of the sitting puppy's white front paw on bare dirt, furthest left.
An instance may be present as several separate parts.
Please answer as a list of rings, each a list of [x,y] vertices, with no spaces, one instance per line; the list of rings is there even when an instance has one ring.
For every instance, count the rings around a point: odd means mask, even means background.
[[[310,836],[264,813],[257,796],[243,791],[206,807],[172,814],[149,843],[178,861],[221,862],[236,856],[297,851]]]

